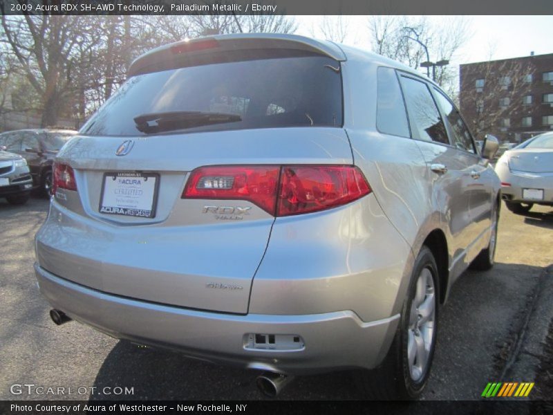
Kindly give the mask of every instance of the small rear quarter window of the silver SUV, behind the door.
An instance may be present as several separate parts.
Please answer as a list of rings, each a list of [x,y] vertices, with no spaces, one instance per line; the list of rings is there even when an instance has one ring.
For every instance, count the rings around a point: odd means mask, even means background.
[[[381,133],[410,137],[400,82],[392,68],[377,70],[376,127]]]

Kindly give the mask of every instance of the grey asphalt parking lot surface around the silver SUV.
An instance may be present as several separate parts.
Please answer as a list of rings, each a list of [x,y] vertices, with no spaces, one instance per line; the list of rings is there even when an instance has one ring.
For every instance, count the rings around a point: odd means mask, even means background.
[[[55,326],[32,270],[33,239],[47,210],[46,199],[33,197],[24,206],[0,199],[0,399],[264,398],[255,387],[256,372],[137,347],[75,322]],[[494,269],[467,272],[440,310],[433,371],[423,399],[478,399],[487,382],[534,380],[524,377],[534,375],[541,358],[543,339],[532,338],[532,329],[550,324],[543,307],[551,301],[543,302],[543,296],[550,293],[553,278],[547,271],[553,263],[553,210],[537,207],[516,216],[503,208],[499,229]],[[350,373],[296,378],[279,398],[363,399],[354,378]],[[14,384],[95,387],[96,393],[14,395]],[[116,386],[133,387],[134,394],[102,393],[104,387]],[[540,387],[536,383],[536,394]]]

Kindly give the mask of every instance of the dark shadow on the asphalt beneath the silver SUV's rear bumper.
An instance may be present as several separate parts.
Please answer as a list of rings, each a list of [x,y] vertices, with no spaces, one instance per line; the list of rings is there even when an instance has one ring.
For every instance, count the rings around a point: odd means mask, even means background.
[[[259,400],[261,372],[214,365],[181,353],[150,349],[122,340],[106,357],[90,400]],[[362,399],[348,372],[294,378],[278,399]],[[104,387],[133,387],[133,394],[104,394]]]

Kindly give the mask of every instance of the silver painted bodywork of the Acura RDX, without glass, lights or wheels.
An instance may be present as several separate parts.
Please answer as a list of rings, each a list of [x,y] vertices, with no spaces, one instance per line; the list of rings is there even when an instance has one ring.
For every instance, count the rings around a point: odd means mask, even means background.
[[[455,147],[377,131],[377,67],[420,76],[415,71],[329,42],[325,50],[303,37],[261,37],[308,44],[341,61],[343,128],[77,136],[57,160],[75,169],[79,192],[59,190],[37,233],[41,291],[75,320],[189,356],[298,374],[375,367],[428,235],[441,232],[447,241],[446,293],[487,246],[498,178]],[[129,139],[129,154],[115,156]],[[438,159],[451,166],[447,176],[429,169]],[[244,164],[356,165],[372,192],[339,208],[276,219],[247,202],[180,199],[192,169]],[[156,217],[100,214],[104,172],[137,169],[160,174]],[[472,169],[479,181],[467,178]],[[202,213],[206,203],[252,209],[241,221],[223,222]],[[205,286],[212,282],[242,289]],[[245,350],[247,333],[301,335],[305,348]]]

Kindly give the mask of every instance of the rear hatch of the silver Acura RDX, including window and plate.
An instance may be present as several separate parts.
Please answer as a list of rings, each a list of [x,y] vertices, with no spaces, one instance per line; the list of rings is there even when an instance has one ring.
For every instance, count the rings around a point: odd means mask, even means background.
[[[183,199],[191,172],[353,163],[339,62],[313,50],[277,55],[171,61],[178,67],[130,77],[56,159],[60,177],[73,169],[77,192],[62,185],[55,199],[74,220],[62,245],[42,247],[41,266],[106,293],[247,313],[273,212],[236,198]]]

